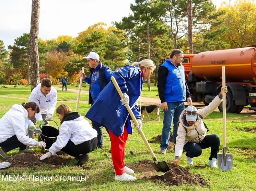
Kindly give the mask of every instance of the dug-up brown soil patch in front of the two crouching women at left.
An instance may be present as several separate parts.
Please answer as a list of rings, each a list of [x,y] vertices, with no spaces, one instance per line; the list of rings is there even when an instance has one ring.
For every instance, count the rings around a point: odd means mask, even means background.
[[[63,158],[63,155],[52,155],[49,159],[39,160],[40,156],[43,154],[40,152],[32,151],[31,153],[20,153],[15,156],[12,156],[10,159],[4,162],[10,162],[10,167],[17,167],[19,169],[25,168],[40,168],[42,165],[49,164],[53,168],[59,168],[62,165],[66,165],[70,160],[71,157],[68,159]]]

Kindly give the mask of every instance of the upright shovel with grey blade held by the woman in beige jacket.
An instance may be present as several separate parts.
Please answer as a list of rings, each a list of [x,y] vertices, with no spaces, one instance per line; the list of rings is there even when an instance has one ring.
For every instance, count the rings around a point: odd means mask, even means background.
[[[226,86],[225,66],[222,66],[222,87]],[[226,153],[226,93],[223,93],[223,153],[218,153],[218,165],[222,172],[230,171],[233,167],[233,154]]]

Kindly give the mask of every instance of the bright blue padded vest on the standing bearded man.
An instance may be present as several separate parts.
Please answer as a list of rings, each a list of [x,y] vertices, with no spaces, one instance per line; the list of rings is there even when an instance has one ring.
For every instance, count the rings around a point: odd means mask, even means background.
[[[161,65],[168,69],[164,96],[166,102],[186,101],[185,69],[184,66],[174,66],[170,59]]]

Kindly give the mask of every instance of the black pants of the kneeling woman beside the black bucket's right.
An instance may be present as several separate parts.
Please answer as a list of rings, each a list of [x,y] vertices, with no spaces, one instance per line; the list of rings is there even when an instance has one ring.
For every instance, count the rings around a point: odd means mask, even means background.
[[[89,152],[92,152],[97,147],[97,138],[93,138],[91,140],[82,142],[79,145],[75,145],[71,140],[68,141],[67,145],[61,149],[61,151],[77,157],[79,154],[87,154]]]

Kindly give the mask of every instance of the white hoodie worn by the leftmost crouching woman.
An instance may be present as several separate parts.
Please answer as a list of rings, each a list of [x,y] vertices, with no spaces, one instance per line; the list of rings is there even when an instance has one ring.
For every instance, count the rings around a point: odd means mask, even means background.
[[[36,140],[26,135],[26,129],[30,126],[35,125],[27,118],[27,110],[22,105],[14,104],[0,119],[0,142],[16,135],[24,145],[35,146]]]

